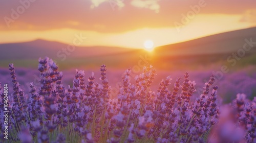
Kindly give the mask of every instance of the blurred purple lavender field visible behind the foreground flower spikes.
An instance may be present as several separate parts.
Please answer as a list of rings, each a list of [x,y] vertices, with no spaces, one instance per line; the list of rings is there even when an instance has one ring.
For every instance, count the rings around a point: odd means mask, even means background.
[[[130,67],[127,67],[127,69]],[[92,73],[95,75],[100,75],[99,69],[88,69],[88,68],[78,68],[78,70],[84,70],[85,78],[88,78]],[[228,74],[220,75],[219,73],[216,75],[216,82],[214,85],[219,85],[225,88],[218,89],[218,96],[221,97],[222,102],[229,103],[233,99],[236,98],[238,93],[246,94],[247,98],[253,99],[256,96],[256,66],[248,66],[246,68],[242,68],[236,71],[230,71]],[[189,77],[191,81],[196,81],[196,94],[200,95],[203,91],[203,86],[208,81],[209,76],[211,74],[216,74],[215,70],[211,69],[201,69],[201,70],[156,70],[157,75],[156,79],[153,81],[151,85],[151,89],[157,90],[159,83],[162,79],[170,76],[173,80],[179,77],[183,77],[184,73],[189,71]],[[73,85],[74,75],[76,74],[76,69],[64,69],[61,71],[63,74],[62,84],[66,88],[68,86]],[[122,75],[125,73],[123,69],[108,69],[108,81],[109,85],[112,87],[111,98],[115,98],[117,96],[119,85],[122,84]],[[131,71],[131,83],[135,83],[136,74]],[[38,69],[33,68],[16,68],[16,75],[18,78],[18,82],[20,83],[22,89],[28,93],[30,91],[30,83],[33,82],[33,85],[38,88],[41,86],[40,83],[40,74]],[[10,80],[10,71],[8,68],[0,67],[0,78],[2,84],[6,83],[12,85],[12,81]],[[96,82],[100,83],[99,77],[96,76]],[[173,84],[169,86],[169,88],[173,88]],[[13,91],[12,88],[9,89],[10,92]]]

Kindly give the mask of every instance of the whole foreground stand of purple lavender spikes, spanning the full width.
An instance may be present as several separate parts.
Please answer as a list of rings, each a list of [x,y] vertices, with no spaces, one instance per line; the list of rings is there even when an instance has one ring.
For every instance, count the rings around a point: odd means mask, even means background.
[[[196,82],[177,78],[161,81],[151,89],[155,69],[147,65],[131,82],[131,70],[122,76],[118,97],[110,98],[106,66],[101,83],[94,73],[86,80],[76,70],[73,86],[62,84],[62,73],[49,58],[39,59],[39,88],[20,88],[13,64],[9,65],[13,93],[9,94],[9,135],[3,136],[4,112],[0,110],[1,139],[5,142],[255,142],[256,98],[244,94],[228,107],[218,103],[215,76],[196,96]],[[4,107],[4,88],[0,88]],[[196,99],[196,100],[192,100]],[[223,110],[222,110],[223,108]],[[224,128],[226,127],[226,128]],[[234,132],[235,131],[235,132]],[[237,131],[237,132],[236,132]],[[237,134],[232,137],[232,135]]]

